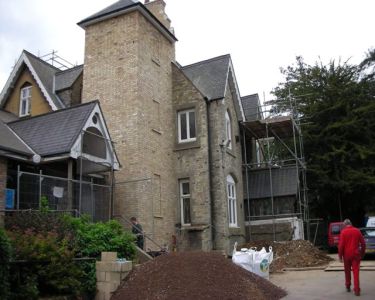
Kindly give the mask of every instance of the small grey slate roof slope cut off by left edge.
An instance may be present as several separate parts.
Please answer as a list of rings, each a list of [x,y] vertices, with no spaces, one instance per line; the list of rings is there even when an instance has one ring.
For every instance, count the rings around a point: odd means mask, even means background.
[[[0,121],[0,149],[16,152],[26,156],[32,156],[35,154],[2,121]]]

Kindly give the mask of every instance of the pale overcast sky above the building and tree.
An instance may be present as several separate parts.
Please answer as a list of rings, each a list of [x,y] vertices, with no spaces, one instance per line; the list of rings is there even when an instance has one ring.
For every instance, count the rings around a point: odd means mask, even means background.
[[[22,49],[83,63],[76,23],[115,0],[0,0],[0,86]],[[143,1],[142,1],[143,2]],[[360,62],[375,46],[374,0],[165,0],[186,65],[231,54],[241,95],[269,92],[302,55]]]

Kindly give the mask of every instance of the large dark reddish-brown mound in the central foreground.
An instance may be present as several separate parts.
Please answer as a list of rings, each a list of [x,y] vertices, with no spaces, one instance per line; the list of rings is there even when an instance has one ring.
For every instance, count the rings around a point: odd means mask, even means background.
[[[122,299],[280,299],[286,292],[208,252],[170,253],[135,268],[112,296]]]

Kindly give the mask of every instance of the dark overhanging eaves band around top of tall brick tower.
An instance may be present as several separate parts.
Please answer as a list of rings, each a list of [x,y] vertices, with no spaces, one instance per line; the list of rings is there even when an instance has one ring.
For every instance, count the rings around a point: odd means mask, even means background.
[[[118,8],[113,11],[103,13],[99,16],[93,16],[86,18],[77,23],[78,26],[85,29],[88,25],[97,23],[99,21],[107,20],[109,18],[119,16],[132,11],[139,11],[148,21],[155,25],[170,42],[178,41],[177,38],[170,32],[168,28],[164,26],[141,2],[135,2],[126,7]]]

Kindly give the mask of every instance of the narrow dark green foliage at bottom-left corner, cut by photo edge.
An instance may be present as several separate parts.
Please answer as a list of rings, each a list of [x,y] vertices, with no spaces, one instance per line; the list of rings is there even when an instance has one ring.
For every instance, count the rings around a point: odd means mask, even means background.
[[[12,248],[8,237],[0,228],[0,299],[9,296],[9,262]]]

